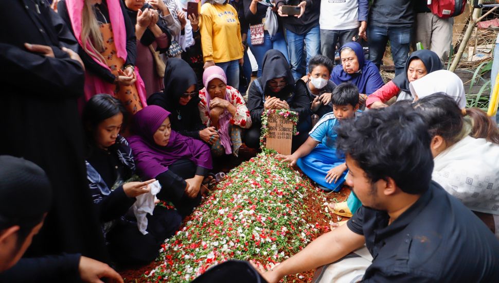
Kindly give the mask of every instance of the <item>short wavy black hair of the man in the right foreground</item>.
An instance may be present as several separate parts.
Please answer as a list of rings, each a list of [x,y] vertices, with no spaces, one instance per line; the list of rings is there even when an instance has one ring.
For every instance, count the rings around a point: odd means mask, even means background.
[[[430,186],[433,156],[430,134],[421,114],[407,103],[371,109],[336,129],[337,148],[365,171],[370,181],[392,178],[406,193]]]

